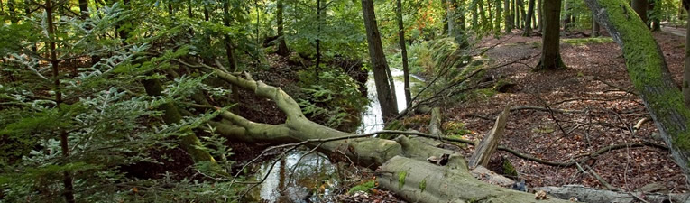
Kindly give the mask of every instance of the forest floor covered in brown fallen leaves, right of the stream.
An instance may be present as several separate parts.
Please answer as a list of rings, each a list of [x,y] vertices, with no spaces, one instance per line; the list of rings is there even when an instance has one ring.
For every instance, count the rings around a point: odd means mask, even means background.
[[[485,38],[478,46],[491,47],[486,54],[494,64],[536,56],[505,68],[488,72],[515,84],[507,93],[477,98],[453,106],[446,123],[465,123],[467,139],[481,139],[490,131],[493,119],[507,104],[566,109],[570,113],[513,111],[501,145],[547,161],[567,162],[612,144],[654,142],[658,130],[647,122],[631,131],[639,120],[649,117],[625,69],[620,47],[612,41],[578,43],[562,38],[561,55],[568,69],[532,72],[541,51],[541,38],[514,33],[501,39]],[[664,51],[668,68],[678,87],[684,63],[685,39],[667,32],[654,32]],[[566,37],[567,38],[567,37]],[[570,42],[569,42],[570,41]],[[472,152],[470,147],[466,152]],[[494,170],[507,159],[530,187],[578,184],[603,188],[593,175],[578,167],[554,167],[525,161],[507,152],[493,156]],[[669,152],[653,147],[624,148],[605,152],[587,162],[613,187],[636,190],[650,183],[664,185],[671,192],[685,192],[685,176]],[[584,167],[584,166],[583,166]],[[585,169],[586,170],[586,169]]]

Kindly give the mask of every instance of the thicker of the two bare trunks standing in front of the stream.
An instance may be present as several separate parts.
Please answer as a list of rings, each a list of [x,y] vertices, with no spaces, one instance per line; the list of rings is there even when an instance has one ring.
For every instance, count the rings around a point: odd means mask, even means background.
[[[383,121],[387,122],[391,117],[398,114],[398,104],[393,97],[395,90],[391,89],[388,82],[389,78],[386,74],[388,63],[386,62],[386,56],[383,54],[381,33],[376,24],[373,0],[362,0],[362,13],[364,27],[366,28],[366,39],[369,42],[369,56],[372,61],[376,92],[378,93],[379,104],[381,104]]]

